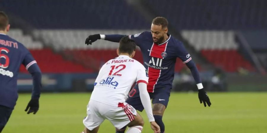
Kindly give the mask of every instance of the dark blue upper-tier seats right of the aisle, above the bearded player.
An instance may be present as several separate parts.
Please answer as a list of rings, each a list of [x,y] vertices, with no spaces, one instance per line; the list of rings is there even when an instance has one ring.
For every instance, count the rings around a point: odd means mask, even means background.
[[[266,0],[147,0],[155,12],[181,29],[267,28]]]

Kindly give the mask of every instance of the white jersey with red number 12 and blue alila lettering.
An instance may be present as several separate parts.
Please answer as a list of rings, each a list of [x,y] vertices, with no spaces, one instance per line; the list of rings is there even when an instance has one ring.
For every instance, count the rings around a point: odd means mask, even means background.
[[[125,102],[136,82],[148,83],[146,69],[135,59],[120,55],[101,67],[90,100],[118,106]]]

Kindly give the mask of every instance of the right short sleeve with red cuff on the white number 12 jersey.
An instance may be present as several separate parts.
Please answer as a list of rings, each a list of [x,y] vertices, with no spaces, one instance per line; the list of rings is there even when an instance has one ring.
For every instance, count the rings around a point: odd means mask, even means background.
[[[141,82],[148,84],[147,70],[144,68],[144,66],[142,64],[138,65],[136,82],[137,82],[137,84],[141,83]]]

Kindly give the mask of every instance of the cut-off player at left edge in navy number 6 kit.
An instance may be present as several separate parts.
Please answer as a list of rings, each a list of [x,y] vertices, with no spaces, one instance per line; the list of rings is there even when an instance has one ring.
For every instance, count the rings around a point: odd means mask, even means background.
[[[25,111],[36,113],[39,109],[42,73],[28,49],[10,38],[9,20],[0,12],[0,132],[4,129],[18,99],[17,79],[20,64],[23,64],[33,78],[31,100]]]

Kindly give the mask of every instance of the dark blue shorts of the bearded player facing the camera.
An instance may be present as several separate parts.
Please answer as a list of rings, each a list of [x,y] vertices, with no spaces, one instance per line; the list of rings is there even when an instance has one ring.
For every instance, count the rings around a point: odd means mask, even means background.
[[[150,99],[152,99],[152,104],[160,103],[163,104],[166,108],[169,102],[171,89],[158,88],[154,93],[149,93]],[[133,106],[138,111],[143,111],[144,107],[142,105],[138,85],[135,85],[134,88],[130,91],[128,95],[128,100],[126,103]]]

